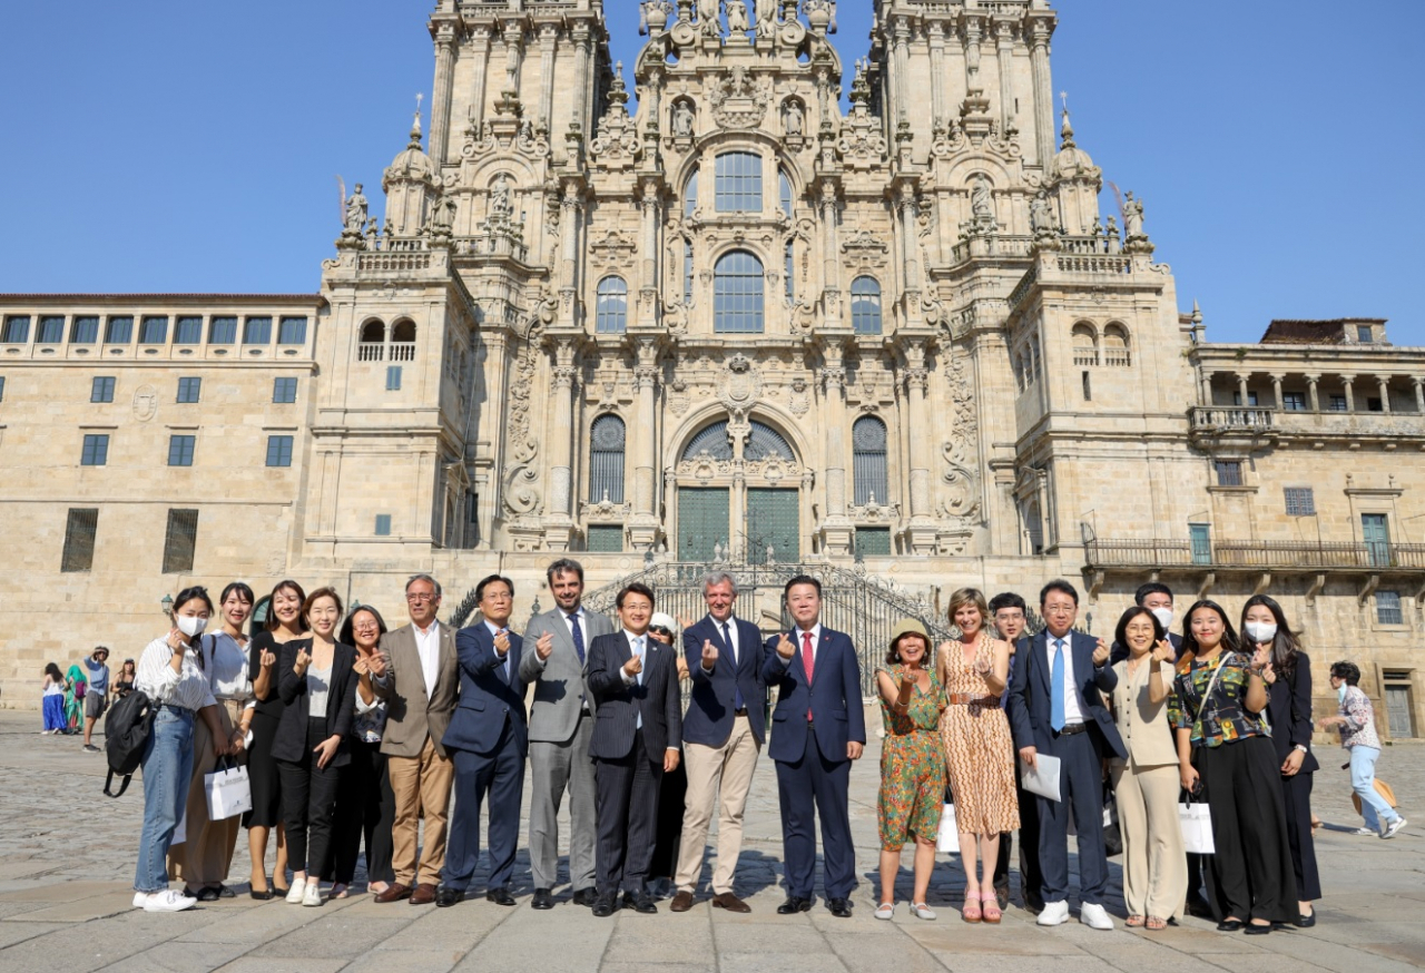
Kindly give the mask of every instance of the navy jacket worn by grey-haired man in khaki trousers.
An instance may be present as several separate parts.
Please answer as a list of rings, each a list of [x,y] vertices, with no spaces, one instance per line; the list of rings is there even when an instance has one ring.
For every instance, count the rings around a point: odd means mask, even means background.
[[[704,615],[703,621],[683,630],[683,651],[693,674],[693,699],[683,717],[683,742],[721,746],[732,735],[737,691],[742,691],[747,722],[761,746],[767,739],[767,682],[762,680],[762,633],[750,621],[732,617],[737,625],[740,652],[732,661],[732,650],[722,641],[722,627]],[[703,642],[717,645],[712,674],[703,671]]]

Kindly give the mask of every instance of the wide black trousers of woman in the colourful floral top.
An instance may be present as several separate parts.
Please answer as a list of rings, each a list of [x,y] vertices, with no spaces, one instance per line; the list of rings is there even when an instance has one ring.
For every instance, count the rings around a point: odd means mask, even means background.
[[[1213,915],[1218,922],[1297,919],[1281,765],[1271,738],[1247,737],[1221,746],[1198,746],[1194,758],[1217,846],[1216,855],[1206,856],[1204,869]]]

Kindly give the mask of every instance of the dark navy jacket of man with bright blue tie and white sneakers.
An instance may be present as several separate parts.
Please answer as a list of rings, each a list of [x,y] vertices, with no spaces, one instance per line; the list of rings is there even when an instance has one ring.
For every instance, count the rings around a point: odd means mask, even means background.
[[[1039,633],[1029,642],[1029,654],[1017,658],[1015,678],[1009,684],[1009,722],[1015,731],[1015,746],[1023,749],[1033,746],[1040,754],[1053,754],[1053,728],[1049,725],[1052,701],[1049,687],[1053,674],[1049,670],[1049,630]],[[1084,712],[1084,722],[1089,724],[1089,737],[1093,739],[1099,756],[1113,755],[1127,759],[1129,752],[1123,746],[1119,728],[1113,724],[1113,715],[1103,704],[1103,692],[1113,692],[1119,684],[1119,677],[1112,668],[1102,670],[1093,665],[1093,650],[1099,640],[1079,631],[1069,633],[1069,651],[1073,652],[1073,674],[1079,690],[1079,707]],[[1023,650],[1020,650],[1023,651]],[[1027,665],[1026,665],[1027,662]],[[1100,692],[1102,690],[1102,692]]]

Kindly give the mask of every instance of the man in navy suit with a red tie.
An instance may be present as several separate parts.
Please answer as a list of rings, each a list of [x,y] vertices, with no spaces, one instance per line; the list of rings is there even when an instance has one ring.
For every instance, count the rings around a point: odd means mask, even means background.
[[[821,581],[805,574],[782,590],[797,625],[767,640],[762,678],[778,687],[772,741],[777,796],[782,809],[782,859],[787,900],[777,913],[811,909],[817,866],[817,816],[821,816],[826,907],[851,917],[856,888],[856,852],[851,843],[848,788],[851,762],[866,745],[861,708],[861,665],[856,647],[839,631],[821,625]]]

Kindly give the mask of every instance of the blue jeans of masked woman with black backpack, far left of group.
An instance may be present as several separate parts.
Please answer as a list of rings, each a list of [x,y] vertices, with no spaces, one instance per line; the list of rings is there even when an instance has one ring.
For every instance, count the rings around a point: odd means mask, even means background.
[[[144,744],[144,831],[134,870],[137,892],[152,893],[168,888],[165,856],[188,802],[192,776],[192,718],[191,709],[164,707],[154,717],[152,731]]]

